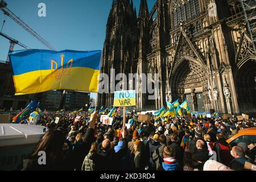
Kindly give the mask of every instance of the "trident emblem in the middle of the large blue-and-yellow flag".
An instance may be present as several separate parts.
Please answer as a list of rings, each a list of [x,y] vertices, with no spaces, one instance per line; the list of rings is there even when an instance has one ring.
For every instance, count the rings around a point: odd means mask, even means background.
[[[64,75],[69,75],[71,72],[72,64],[73,64],[73,59],[69,60],[66,67],[63,65],[64,61],[64,55],[61,55],[61,67],[58,69],[58,64],[56,61],[51,60],[51,77],[55,77],[56,80],[60,80],[60,78]],[[53,68],[55,66],[55,68]]]

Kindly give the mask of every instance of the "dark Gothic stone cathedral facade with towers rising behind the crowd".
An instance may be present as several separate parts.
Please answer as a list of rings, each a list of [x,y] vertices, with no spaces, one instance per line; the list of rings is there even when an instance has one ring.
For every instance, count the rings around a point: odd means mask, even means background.
[[[101,73],[158,73],[155,100],[136,85],[139,111],[187,99],[192,111],[255,113],[255,5],[245,0],[157,0],[149,10],[147,0],[141,0],[137,15],[132,0],[114,0]],[[112,107],[113,97],[98,94],[97,105]]]

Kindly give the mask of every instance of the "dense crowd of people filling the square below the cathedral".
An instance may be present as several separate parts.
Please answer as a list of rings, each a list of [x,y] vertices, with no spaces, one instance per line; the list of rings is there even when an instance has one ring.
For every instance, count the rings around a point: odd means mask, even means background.
[[[57,123],[56,117],[60,118]],[[117,115],[112,126],[104,125],[97,111],[44,113],[38,125],[48,131],[20,169],[231,171],[255,164],[255,141],[226,142],[239,130],[256,127],[254,120],[166,117],[138,122],[131,113],[126,115],[129,129],[122,121]],[[46,165],[38,164],[39,151],[46,151]]]

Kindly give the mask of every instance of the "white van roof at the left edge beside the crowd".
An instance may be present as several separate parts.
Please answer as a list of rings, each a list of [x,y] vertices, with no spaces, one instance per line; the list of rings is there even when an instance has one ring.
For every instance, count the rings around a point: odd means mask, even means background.
[[[38,143],[46,131],[44,126],[0,124],[0,147]]]

